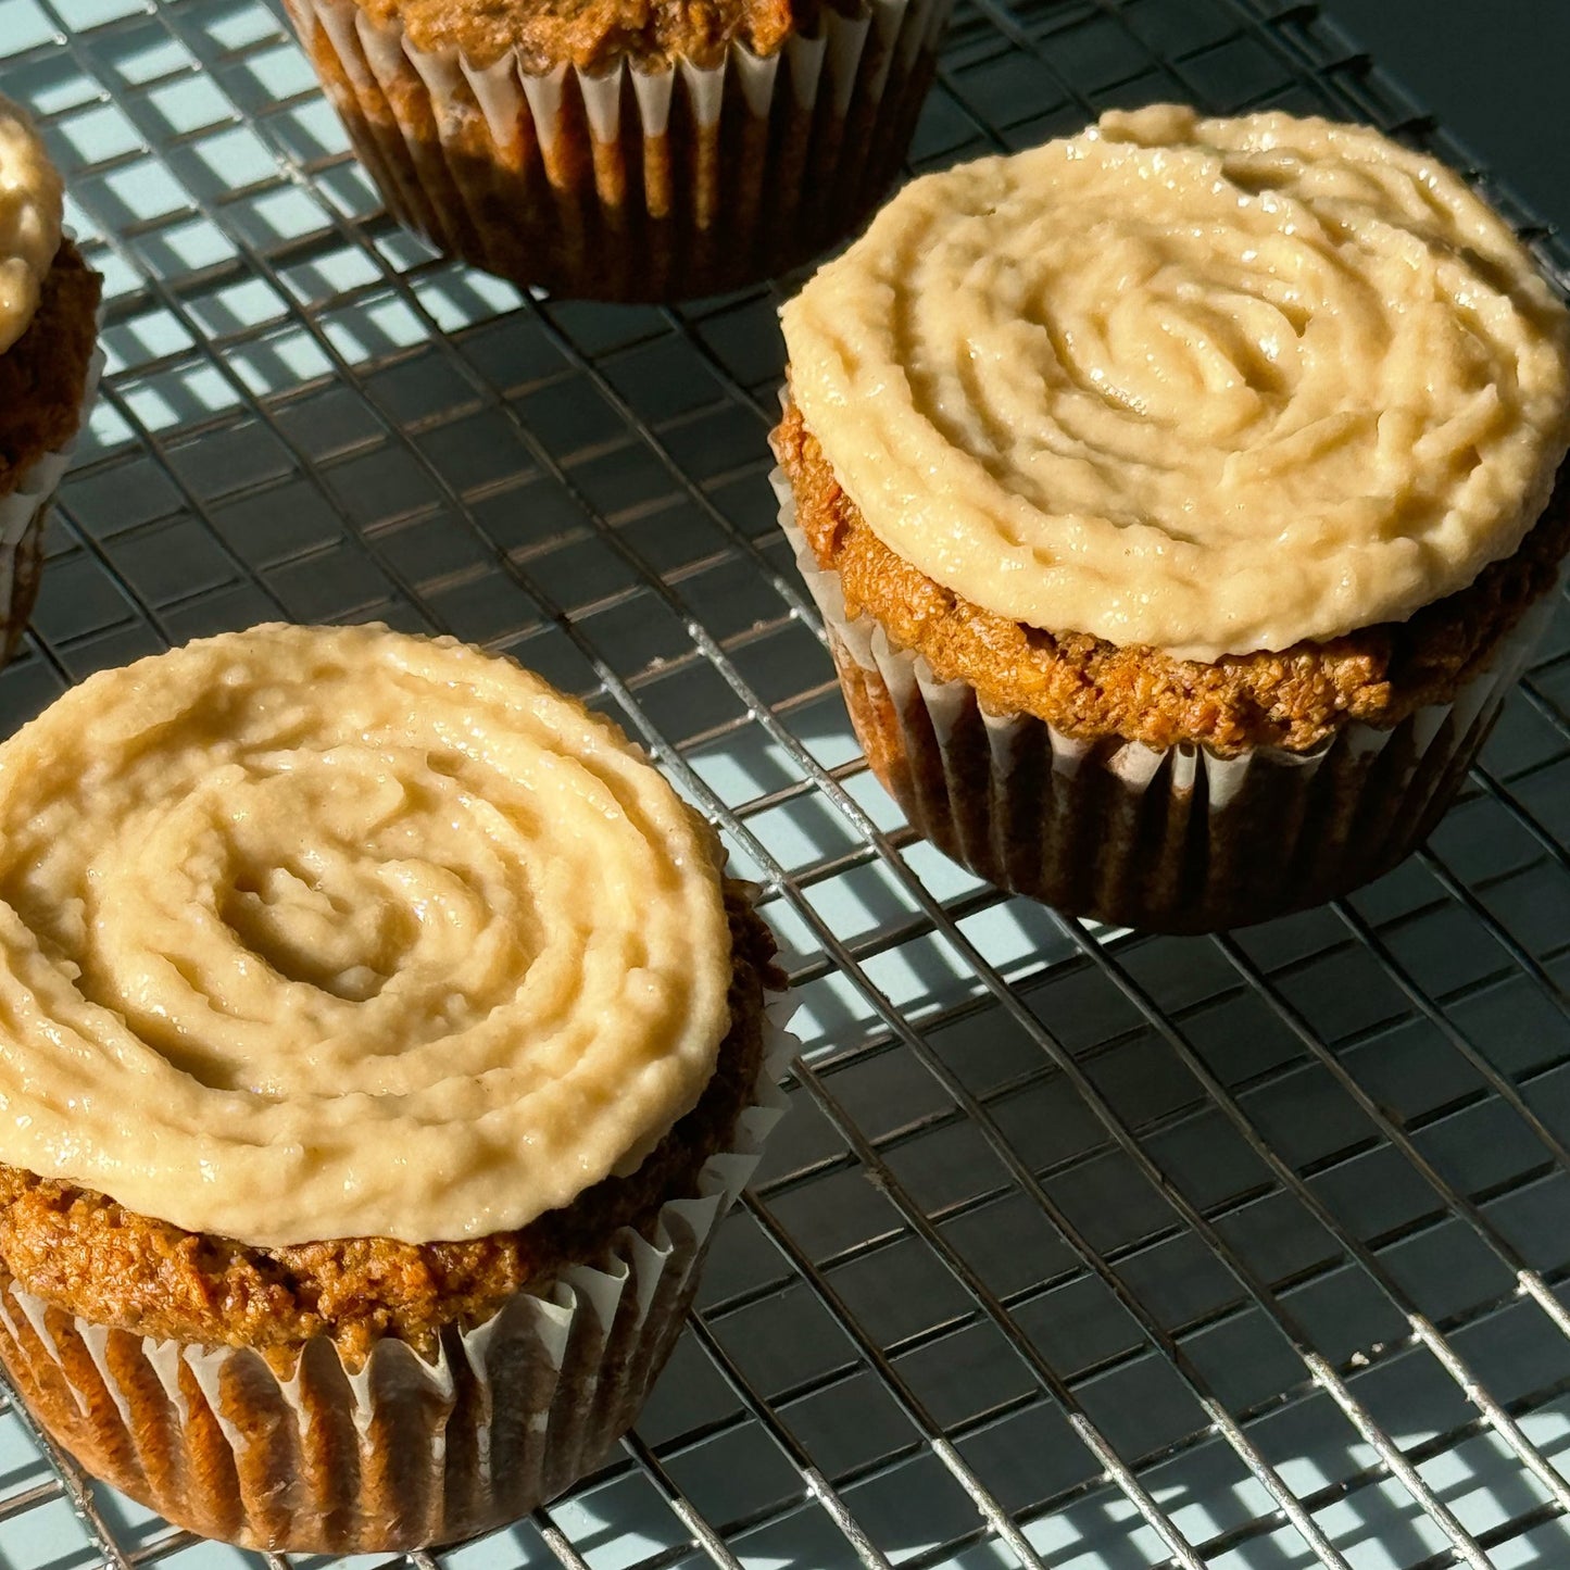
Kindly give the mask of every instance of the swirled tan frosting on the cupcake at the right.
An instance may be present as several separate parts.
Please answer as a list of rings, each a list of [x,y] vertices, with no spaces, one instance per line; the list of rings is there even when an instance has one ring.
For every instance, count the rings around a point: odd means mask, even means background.
[[[1320,119],[1160,105],[928,176],[782,314],[885,545],[999,615],[1181,658],[1465,587],[1570,444],[1531,256],[1432,157]]]

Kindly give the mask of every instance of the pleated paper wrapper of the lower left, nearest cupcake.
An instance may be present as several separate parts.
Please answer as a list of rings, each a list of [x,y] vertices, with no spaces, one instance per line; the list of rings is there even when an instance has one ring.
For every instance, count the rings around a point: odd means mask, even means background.
[[[796,1049],[771,1000],[754,1104],[699,1196],[648,1239],[623,1228],[593,1262],[358,1369],[317,1338],[278,1367],[245,1347],[113,1330],[0,1272],[0,1358],[35,1418],[94,1476],[179,1526],[248,1548],[392,1551],[526,1515],[592,1471],[633,1424],[681,1330],[708,1243],[785,1110]]]

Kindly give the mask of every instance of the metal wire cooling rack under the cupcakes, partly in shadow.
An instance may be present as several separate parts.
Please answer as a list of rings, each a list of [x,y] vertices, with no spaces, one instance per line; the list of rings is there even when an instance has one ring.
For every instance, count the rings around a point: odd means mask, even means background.
[[[6,728],[268,617],[506,648],[724,826],[805,1057],[637,1435],[430,1570],[1570,1564],[1570,615],[1432,846],[1217,939],[911,838],[774,528],[780,289],[521,298],[380,212],[264,0],[0,0],[110,374]],[[1435,129],[1311,5],[961,0],[917,166],[1152,97]],[[1543,261],[1565,254],[1495,193]],[[0,1416],[0,1564],[254,1562]]]

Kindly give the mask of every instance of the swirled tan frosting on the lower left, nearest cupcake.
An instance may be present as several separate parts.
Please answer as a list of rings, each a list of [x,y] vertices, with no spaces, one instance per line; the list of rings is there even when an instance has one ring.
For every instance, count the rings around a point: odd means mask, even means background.
[[[0,747],[0,1160],[254,1245],[523,1226],[728,1030],[717,843],[510,661],[259,626]]]

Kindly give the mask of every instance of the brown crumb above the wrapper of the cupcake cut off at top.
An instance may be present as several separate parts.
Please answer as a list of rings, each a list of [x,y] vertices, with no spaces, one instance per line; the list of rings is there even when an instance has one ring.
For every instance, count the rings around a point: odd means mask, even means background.
[[[355,0],[378,22],[402,22],[416,49],[462,50],[476,66],[517,52],[523,68],[603,71],[625,58],[659,68],[717,64],[732,41],[777,53],[810,31],[818,0]]]

